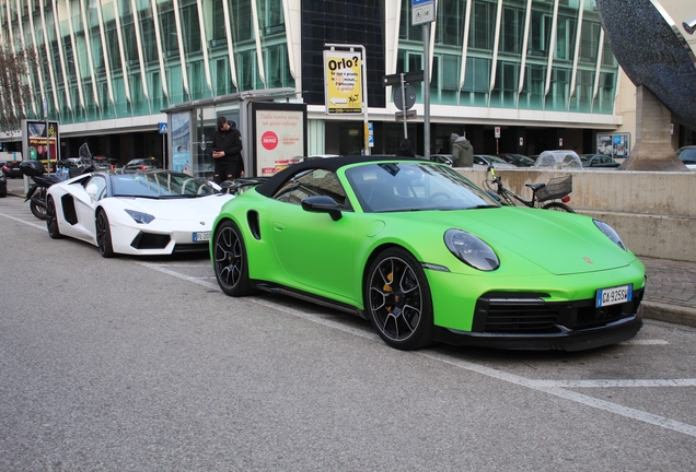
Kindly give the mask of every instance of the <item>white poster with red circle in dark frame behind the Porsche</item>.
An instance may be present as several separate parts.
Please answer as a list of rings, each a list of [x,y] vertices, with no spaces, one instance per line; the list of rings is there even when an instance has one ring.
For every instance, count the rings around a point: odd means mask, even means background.
[[[306,105],[253,103],[256,176],[270,176],[306,155]]]

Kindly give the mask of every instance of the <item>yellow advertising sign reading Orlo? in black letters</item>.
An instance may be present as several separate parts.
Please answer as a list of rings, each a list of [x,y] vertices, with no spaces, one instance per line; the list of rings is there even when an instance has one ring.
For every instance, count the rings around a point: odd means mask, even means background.
[[[327,114],[362,113],[361,52],[324,51]]]

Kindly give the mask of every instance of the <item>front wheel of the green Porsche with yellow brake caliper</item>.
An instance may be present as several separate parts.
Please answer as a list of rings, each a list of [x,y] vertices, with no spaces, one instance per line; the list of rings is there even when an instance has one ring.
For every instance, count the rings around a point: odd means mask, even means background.
[[[380,338],[392,347],[432,344],[432,299],[418,261],[401,248],[382,251],[370,266],[366,309]]]

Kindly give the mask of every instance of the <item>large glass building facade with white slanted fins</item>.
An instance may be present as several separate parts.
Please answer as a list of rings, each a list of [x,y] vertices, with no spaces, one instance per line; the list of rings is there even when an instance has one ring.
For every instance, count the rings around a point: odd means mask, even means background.
[[[43,119],[47,97],[63,139],[146,133],[156,146],[163,109],[289,87],[309,106],[317,154],[362,146],[360,117],[325,114],[322,51],[363,45],[376,154],[403,135],[384,75],[426,63],[411,13],[405,0],[0,0],[0,40],[38,51],[22,78],[35,99],[16,106]],[[510,130],[507,152],[529,154],[566,132],[582,148],[588,132],[616,128],[618,64],[593,0],[438,0],[430,31],[431,152],[457,132],[492,153],[495,126]],[[413,85],[422,117],[424,83]],[[422,119],[408,132],[422,154]]]

